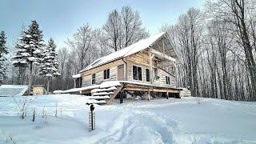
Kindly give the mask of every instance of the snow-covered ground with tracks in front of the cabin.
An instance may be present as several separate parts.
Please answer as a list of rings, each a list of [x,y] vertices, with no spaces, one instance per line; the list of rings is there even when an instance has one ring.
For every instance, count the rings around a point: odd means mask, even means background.
[[[85,102],[80,95],[37,97],[22,120],[14,99],[0,98],[0,143],[256,143],[256,102],[170,98],[95,106],[93,132]],[[43,107],[52,115],[47,122]]]

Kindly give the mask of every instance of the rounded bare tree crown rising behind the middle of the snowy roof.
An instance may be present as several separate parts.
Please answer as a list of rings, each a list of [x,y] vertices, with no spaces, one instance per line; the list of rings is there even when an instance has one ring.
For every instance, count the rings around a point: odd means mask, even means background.
[[[149,36],[142,27],[138,11],[132,10],[130,6],[122,7],[121,13],[118,10],[111,11],[102,30],[106,33],[106,45],[114,51]]]

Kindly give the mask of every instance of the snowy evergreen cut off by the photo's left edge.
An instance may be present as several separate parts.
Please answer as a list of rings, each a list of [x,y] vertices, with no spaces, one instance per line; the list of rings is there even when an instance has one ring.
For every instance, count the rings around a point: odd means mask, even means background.
[[[0,33],[0,83],[6,78],[6,58],[4,54],[8,54],[6,46],[6,34],[4,31]]]

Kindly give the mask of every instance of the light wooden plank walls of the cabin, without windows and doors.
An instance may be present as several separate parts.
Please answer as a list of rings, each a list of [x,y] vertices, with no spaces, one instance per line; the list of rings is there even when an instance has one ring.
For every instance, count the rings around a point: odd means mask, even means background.
[[[154,62],[152,62],[153,66],[153,76],[154,76],[154,68],[156,68],[156,59],[153,59]],[[127,71],[126,71],[126,65],[124,65],[124,74],[126,79],[127,74],[127,81],[133,81],[133,82],[143,82],[150,84],[150,82],[146,82],[146,69],[150,69],[150,62],[149,62],[149,55],[147,53],[138,53],[133,54],[125,58],[125,61],[127,62]],[[125,64],[125,62],[122,61],[122,59],[119,59],[114,62],[107,63],[103,66],[98,66],[92,70],[87,70],[82,73],[82,86],[90,86],[91,83],[91,74],[95,75],[95,81],[96,84],[100,84],[102,82],[106,81],[116,81],[118,80],[118,66]],[[142,81],[134,80],[133,79],[133,66],[139,66],[142,67]],[[103,80],[103,71],[106,69],[110,69],[110,78]],[[172,75],[167,73],[165,70],[161,70],[158,68],[158,80],[153,79],[153,84],[155,86],[170,86],[175,88],[176,87],[176,78]],[[170,77],[170,85],[166,84],[166,76]]]

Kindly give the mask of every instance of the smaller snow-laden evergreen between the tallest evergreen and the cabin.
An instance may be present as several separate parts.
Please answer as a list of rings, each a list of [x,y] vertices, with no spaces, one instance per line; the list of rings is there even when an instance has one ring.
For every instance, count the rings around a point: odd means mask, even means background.
[[[47,78],[47,92],[49,93],[49,81],[52,77],[57,77],[60,75],[58,73],[58,62],[56,54],[56,45],[54,40],[50,38],[48,45],[45,50],[43,50],[42,62],[40,65],[39,74]]]

